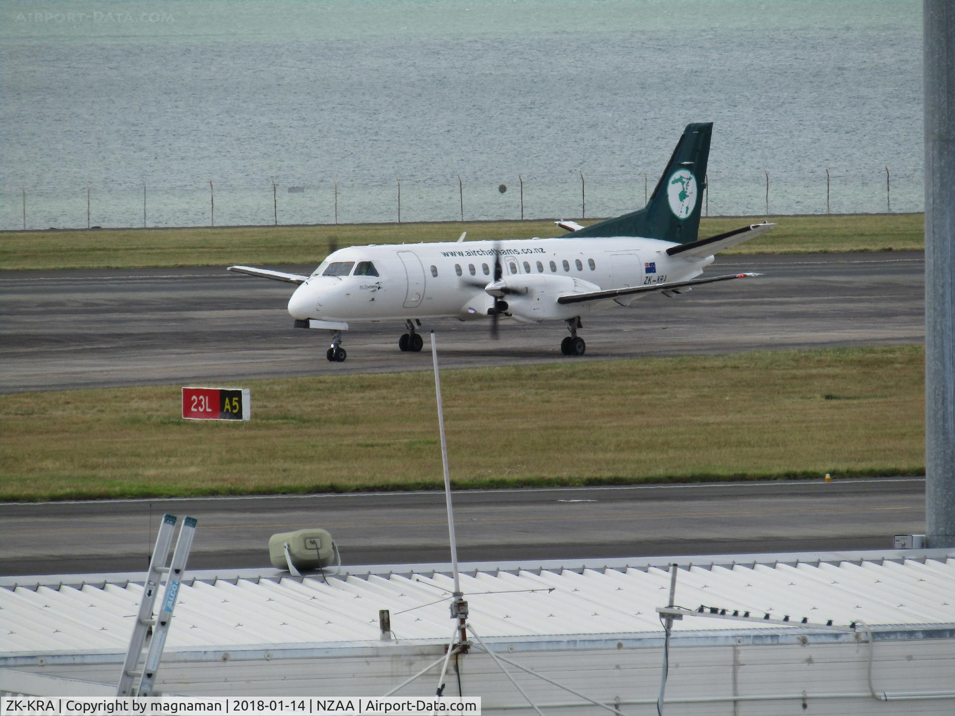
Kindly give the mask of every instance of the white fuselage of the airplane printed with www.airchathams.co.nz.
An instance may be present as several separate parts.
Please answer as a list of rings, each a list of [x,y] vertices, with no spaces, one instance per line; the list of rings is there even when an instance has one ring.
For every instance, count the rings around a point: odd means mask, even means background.
[[[713,261],[669,257],[675,245],[653,239],[584,238],[351,246],[330,254],[288,302],[296,319],[367,322],[390,319],[486,318],[495,297],[495,253],[501,279],[517,289],[504,299],[524,322],[566,320],[613,300],[558,305],[567,293],[689,280]],[[332,263],[373,264],[373,275],[325,276]],[[352,268],[351,270],[355,270]],[[359,269],[360,270],[360,269]],[[615,303],[629,305],[634,297]]]

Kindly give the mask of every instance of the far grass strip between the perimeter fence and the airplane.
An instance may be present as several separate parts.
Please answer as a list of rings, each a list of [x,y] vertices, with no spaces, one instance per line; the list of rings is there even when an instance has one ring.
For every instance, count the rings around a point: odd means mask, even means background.
[[[759,221],[763,218],[704,219],[700,236]],[[798,216],[771,221],[778,224],[774,231],[728,253],[901,251],[924,246],[922,214]],[[0,232],[0,270],[317,265],[331,246],[456,241],[462,231],[467,231],[469,241],[562,234],[552,221]]]

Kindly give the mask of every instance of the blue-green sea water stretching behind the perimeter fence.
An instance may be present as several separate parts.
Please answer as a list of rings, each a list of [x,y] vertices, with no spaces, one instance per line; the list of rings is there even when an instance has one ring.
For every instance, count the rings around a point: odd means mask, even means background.
[[[0,2],[0,228],[605,217],[691,121],[710,215],[920,211],[922,62],[916,0]]]

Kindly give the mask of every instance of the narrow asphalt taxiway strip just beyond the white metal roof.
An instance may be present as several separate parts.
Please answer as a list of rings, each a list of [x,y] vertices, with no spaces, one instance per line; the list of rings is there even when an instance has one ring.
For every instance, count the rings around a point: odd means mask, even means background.
[[[924,479],[454,494],[464,561],[891,548],[923,532]],[[322,527],[347,564],[448,562],[444,493],[0,504],[0,574],[145,570],[162,514],[199,520],[193,569],[268,566],[268,537]]]

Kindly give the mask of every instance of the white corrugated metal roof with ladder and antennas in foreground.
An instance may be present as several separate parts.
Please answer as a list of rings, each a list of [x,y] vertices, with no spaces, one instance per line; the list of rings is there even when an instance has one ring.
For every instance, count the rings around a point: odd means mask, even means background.
[[[955,623],[955,552],[944,550],[629,559],[600,567],[463,564],[461,588],[483,638],[658,637],[654,609],[668,600],[670,560],[681,564],[675,601],[694,610],[718,606],[837,624]],[[683,566],[690,562],[702,564]],[[447,569],[352,567],[327,579],[277,570],[188,572],[166,650],[379,642],[379,609],[391,610],[398,640],[447,641],[453,626]],[[142,594],[136,579],[142,575],[0,579],[0,656],[125,650]],[[676,631],[718,634],[741,628],[792,627],[710,619],[674,624]]]

